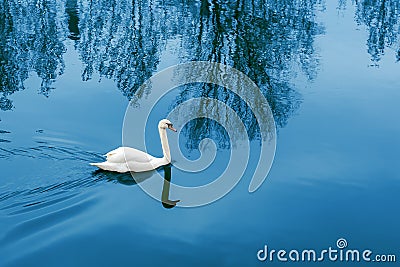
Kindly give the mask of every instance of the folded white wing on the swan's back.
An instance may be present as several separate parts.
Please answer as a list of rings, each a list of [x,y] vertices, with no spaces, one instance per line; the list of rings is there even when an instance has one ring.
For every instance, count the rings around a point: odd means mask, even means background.
[[[154,159],[153,156],[131,147],[119,147],[106,154],[107,161],[112,163],[134,162],[150,162]]]

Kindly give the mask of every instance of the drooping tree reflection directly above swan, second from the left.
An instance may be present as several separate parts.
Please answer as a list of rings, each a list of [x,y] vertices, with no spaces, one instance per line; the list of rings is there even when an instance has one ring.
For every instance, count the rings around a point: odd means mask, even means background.
[[[155,71],[165,40],[164,12],[153,1],[80,2],[83,80],[97,70],[129,99]]]

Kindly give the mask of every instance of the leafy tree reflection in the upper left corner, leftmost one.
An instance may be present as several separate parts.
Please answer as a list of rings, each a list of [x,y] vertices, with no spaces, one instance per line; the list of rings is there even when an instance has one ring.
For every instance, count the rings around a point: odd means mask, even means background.
[[[8,96],[24,89],[34,71],[47,96],[64,70],[62,22],[54,1],[1,1],[0,3],[0,109],[13,105]]]

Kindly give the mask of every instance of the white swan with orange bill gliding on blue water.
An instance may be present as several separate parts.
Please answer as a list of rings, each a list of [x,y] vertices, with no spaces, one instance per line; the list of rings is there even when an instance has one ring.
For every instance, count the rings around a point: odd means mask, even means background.
[[[160,133],[161,146],[164,157],[156,158],[143,151],[131,147],[119,147],[108,152],[105,156],[107,160],[100,163],[90,163],[102,170],[114,172],[144,172],[157,169],[160,166],[171,163],[171,153],[169,151],[167,128],[176,132],[172,123],[163,119],[158,123],[158,132]]]

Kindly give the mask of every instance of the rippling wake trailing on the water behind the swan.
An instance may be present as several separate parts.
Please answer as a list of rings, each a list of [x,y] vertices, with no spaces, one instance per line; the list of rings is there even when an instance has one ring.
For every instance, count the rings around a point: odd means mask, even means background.
[[[46,162],[43,164],[42,160],[51,160],[52,162],[69,160],[69,162],[67,165],[61,164],[61,166],[56,164],[55,174],[49,174],[46,171],[39,174],[44,181],[57,178],[57,182],[43,184],[45,182],[37,179],[35,182],[41,184],[34,186],[34,188],[25,189],[15,188],[21,186],[17,183],[3,186],[0,189],[0,211],[5,213],[6,216],[15,216],[47,208],[73,198],[85,189],[101,183],[114,182],[127,185],[136,183],[129,173],[93,171],[88,163],[103,160],[103,156],[99,153],[83,151],[78,147],[50,145],[45,142],[38,143],[37,146],[28,148],[0,148],[0,158],[10,161],[14,159],[23,160],[24,157],[30,158],[37,161],[38,166],[46,166]],[[28,184],[22,186],[29,187]]]

